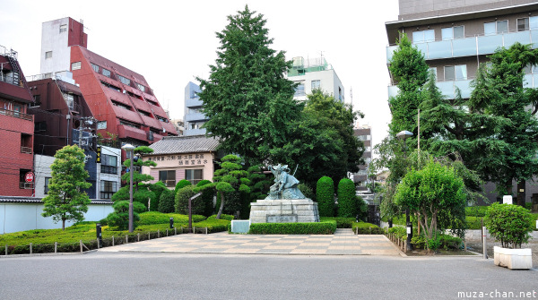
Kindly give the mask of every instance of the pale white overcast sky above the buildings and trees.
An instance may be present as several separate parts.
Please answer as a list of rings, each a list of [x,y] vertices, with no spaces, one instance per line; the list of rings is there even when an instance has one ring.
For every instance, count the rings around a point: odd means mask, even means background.
[[[0,0],[0,45],[18,52],[22,72],[39,73],[41,24],[83,20],[88,49],[144,76],[171,118],[183,118],[185,87],[207,79],[220,46],[215,32],[243,10],[264,15],[273,49],[286,58],[324,56],[343,83],[346,102],[365,114],[374,144],[387,133],[389,75],[385,22],[398,0]],[[352,92],[352,97],[351,97]]]

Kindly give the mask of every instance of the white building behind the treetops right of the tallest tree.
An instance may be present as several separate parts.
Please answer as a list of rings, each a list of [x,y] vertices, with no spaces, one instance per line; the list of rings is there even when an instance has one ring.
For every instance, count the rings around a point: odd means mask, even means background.
[[[320,89],[334,99],[344,101],[342,81],[324,57],[307,60],[303,57],[294,57],[293,67],[288,71],[288,79],[299,83],[293,99],[306,100],[312,90]]]

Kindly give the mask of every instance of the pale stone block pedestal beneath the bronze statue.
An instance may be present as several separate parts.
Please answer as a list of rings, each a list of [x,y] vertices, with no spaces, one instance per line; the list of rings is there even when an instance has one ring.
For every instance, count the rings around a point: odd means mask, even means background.
[[[319,222],[317,202],[310,199],[258,200],[250,203],[250,223]]]

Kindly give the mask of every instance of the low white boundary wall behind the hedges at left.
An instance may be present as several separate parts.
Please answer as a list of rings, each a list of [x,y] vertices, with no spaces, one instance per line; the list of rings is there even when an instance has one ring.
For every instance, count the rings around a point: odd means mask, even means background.
[[[99,221],[113,212],[112,204],[90,204],[84,214],[85,221]],[[0,203],[0,234],[9,234],[32,229],[56,229],[62,227],[62,222],[56,224],[52,218],[41,217],[43,204],[40,203]],[[73,222],[65,222],[65,227]]]

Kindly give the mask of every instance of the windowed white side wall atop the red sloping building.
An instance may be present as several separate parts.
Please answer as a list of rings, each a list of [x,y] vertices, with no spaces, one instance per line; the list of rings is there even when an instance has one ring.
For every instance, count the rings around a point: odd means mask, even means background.
[[[68,30],[60,33],[60,25],[67,25]],[[39,73],[71,71],[71,48],[67,47],[69,35],[69,18],[46,21],[41,27],[41,66]],[[52,51],[52,58],[45,58],[45,53]]]

